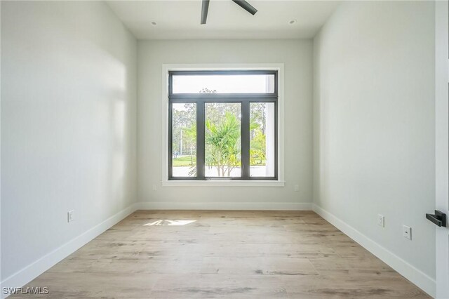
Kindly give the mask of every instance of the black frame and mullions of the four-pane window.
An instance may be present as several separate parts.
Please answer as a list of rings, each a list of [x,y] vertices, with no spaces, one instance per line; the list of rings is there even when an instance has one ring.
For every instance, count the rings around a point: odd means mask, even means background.
[[[273,93],[173,93],[173,75],[274,75]],[[277,70],[195,70],[168,71],[168,180],[278,180],[278,99],[279,74]],[[238,102],[241,104],[241,176],[240,177],[206,177],[206,103]],[[274,176],[250,176],[250,103],[274,103]],[[173,104],[196,104],[196,177],[173,176]]]

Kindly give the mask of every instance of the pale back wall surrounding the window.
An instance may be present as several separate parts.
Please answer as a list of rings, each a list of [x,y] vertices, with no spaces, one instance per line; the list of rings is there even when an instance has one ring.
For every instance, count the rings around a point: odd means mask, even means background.
[[[139,201],[156,208],[288,208],[311,202],[311,40],[139,41],[138,61]],[[284,63],[285,187],[161,187],[162,65],[207,63]]]

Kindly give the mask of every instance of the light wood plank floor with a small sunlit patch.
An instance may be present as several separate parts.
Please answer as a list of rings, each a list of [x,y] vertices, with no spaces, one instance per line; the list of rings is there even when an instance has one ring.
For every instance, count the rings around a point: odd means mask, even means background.
[[[43,298],[429,298],[309,211],[137,211],[28,286],[47,286]]]

